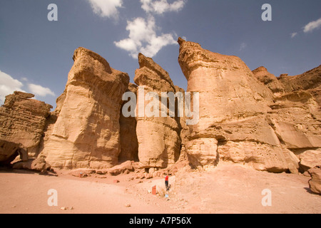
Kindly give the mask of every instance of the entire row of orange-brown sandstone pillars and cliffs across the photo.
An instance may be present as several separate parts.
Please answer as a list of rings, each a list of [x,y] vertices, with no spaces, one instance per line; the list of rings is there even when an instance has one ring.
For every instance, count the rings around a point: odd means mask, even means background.
[[[264,67],[250,71],[236,56],[181,38],[178,43],[186,92],[143,54],[138,56],[136,86],[98,54],[78,48],[50,115],[51,106],[31,100],[31,94],[7,96],[0,108],[0,161],[11,162],[19,154],[28,160],[41,151],[29,164],[34,170],[110,170],[118,161],[133,165],[133,160],[139,161],[136,168],[152,171],[234,162],[297,173],[321,165],[321,66],[277,78]],[[126,91],[136,97],[135,115],[129,117],[122,113]],[[173,102],[169,93],[185,99],[191,94],[191,111],[199,110],[195,124],[187,125],[193,117],[185,110],[178,116],[178,97]]]

